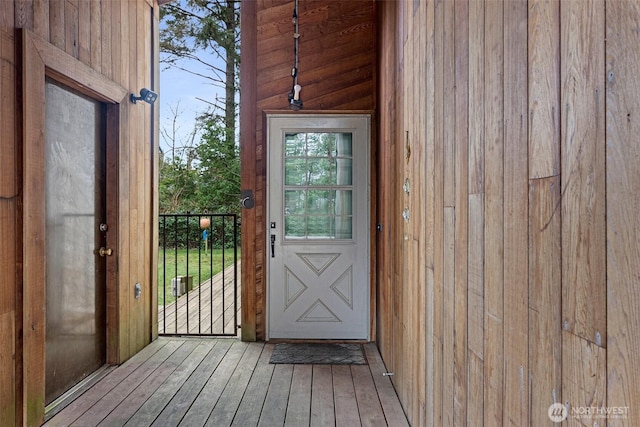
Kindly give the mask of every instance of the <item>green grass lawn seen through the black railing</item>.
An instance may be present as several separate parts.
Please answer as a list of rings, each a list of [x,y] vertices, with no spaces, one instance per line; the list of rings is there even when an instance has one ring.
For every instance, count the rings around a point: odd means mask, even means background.
[[[158,305],[166,305],[175,301],[171,295],[171,279],[176,276],[192,276],[193,288],[222,271],[222,249],[213,249],[205,253],[203,250],[189,249],[187,274],[187,250],[171,249],[158,251]],[[240,248],[238,248],[240,260]],[[233,265],[233,249],[224,251],[224,267]],[[166,267],[166,268],[165,268]],[[177,267],[177,268],[176,268]],[[165,300],[166,298],[166,300]]]

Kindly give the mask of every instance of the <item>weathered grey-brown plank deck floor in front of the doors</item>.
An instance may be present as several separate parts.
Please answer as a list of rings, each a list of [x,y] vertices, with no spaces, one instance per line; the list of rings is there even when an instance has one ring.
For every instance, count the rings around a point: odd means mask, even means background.
[[[161,337],[46,426],[407,426],[375,344],[368,365],[272,365],[273,344]]]

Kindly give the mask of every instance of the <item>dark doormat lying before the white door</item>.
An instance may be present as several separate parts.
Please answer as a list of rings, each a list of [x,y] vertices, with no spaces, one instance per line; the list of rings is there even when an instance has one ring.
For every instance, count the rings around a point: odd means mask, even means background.
[[[366,365],[360,344],[276,344],[269,363],[306,365]]]

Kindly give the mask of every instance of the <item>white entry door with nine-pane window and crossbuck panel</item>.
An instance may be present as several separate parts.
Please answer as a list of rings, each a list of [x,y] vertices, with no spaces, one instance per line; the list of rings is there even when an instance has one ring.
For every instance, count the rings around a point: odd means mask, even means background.
[[[368,115],[268,115],[269,338],[369,338]]]

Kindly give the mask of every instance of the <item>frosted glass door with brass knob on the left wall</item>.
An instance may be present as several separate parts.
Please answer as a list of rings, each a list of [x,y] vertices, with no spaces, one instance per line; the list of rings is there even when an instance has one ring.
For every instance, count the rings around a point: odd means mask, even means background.
[[[104,114],[46,82],[46,403],[106,362]]]

